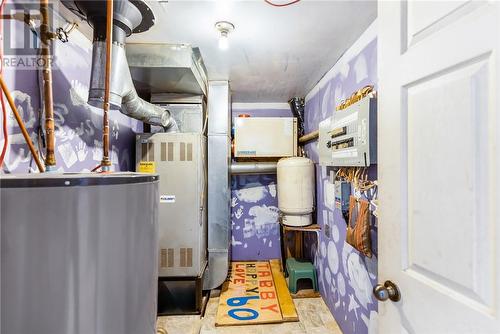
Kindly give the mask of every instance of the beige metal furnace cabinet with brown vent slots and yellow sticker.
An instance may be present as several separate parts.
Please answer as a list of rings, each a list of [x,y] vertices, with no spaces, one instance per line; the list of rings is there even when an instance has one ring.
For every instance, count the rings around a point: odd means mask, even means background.
[[[136,152],[138,172],[160,175],[159,276],[199,277],[207,265],[206,137],[139,134]]]

